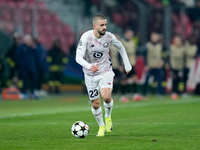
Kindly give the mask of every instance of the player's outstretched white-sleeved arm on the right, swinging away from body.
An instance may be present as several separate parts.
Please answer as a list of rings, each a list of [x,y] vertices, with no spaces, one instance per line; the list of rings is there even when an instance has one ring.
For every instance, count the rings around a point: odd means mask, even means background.
[[[116,39],[116,37],[114,35],[112,37],[113,37],[112,45],[117,48],[117,50],[120,53],[122,60],[124,62],[125,70],[127,73],[129,73],[132,69],[132,66],[129,62],[126,50],[125,50],[124,46],[122,45],[122,43],[118,39]]]

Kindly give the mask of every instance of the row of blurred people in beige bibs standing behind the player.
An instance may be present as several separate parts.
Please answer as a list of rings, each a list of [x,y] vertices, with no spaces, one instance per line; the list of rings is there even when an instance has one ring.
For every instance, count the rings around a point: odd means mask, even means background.
[[[176,34],[172,38],[169,49],[167,49],[164,46],[161,34],[153,31],[150,34],[150,40],[142,46],[144,64],[136,62],[137,44],[132,29],[127,29],[122,38],[117,34],[116,37],[125,46],[133,67],[127,75],[116,48],[112,47],[110,54],[115,72],[113,93],[121,93],[121,101],[127,102],[130,97],[135,101],[145,100],[148,99],[148,93],[157,93],[160,99],[166,92],[171,93],[172,99],[178,99],[179,95],[183,97],[189,95],[187,90],[188,75],[192,63],[198,57],[197,39],[194,36],[189,37],[188,40],[183,40],[179,34]],[[141,67],[144,67],[142,82],[138,79],[138,70],[136,69]],[[167,91],[166,86],[169,78],[172,80],[172,86],[171,90]],[[200,77],[198,81],[200,81]],[[138,84],[140,86],[142,84],[140,90]],[[148,92],[148,90],[151,91]],[[134,95],[132,95],[133,93]]]

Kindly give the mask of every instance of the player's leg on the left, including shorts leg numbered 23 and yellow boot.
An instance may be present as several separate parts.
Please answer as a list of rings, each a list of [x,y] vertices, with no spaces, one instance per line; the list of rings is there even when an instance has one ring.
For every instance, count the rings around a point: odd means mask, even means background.
[[[105,124],[103,121],[102,108],[100,105],[100,92],[98,82],[94,81],[94,77],[85,75],[85,84],[87,87],[89,98],[92,102],[92,114],[94,115],[99,125],[99,131],[97,133],[97,136],[104,136]]]

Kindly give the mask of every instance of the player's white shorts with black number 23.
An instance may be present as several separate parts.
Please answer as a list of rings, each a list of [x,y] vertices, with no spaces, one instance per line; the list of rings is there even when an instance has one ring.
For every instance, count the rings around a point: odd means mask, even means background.
[[[102,88],[112,89],[114,76],[115,74],[113,71],[109,71],[97,76],[90,76],[85,74],[85,84],[90,100],[99,98]]]

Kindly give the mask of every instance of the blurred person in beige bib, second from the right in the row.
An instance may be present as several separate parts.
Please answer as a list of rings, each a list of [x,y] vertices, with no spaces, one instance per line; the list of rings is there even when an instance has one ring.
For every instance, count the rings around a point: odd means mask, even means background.
[[[172,74],[172,99],[178,99],[178,94],[181,94],[184,88],[183,84],[183,68],[184,68],[184,52],[185,47],[180,35],[173,38],[173,43],[170,46],[170,68]]]

